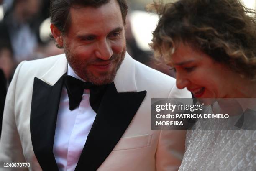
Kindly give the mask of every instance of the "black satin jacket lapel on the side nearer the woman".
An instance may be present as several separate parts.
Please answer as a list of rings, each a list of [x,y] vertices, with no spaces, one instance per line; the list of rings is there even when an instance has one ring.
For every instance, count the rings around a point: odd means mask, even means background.
[[[96,171],[122,137],[146,91],[118,93],[114,83],[103,95],[75,171]]]

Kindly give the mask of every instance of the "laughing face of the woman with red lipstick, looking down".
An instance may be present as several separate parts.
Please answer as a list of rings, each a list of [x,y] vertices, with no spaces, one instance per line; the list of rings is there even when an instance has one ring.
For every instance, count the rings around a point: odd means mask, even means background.
[[[196,98],[229,98],[236,93],[238,74],[187,44],[179,43],[170,65],[176,70],[177,87],[186,87]]]

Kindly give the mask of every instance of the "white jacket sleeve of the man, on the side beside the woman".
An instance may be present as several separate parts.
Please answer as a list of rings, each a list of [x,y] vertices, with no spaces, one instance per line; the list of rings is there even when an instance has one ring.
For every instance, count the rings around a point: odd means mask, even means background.
[[[174,85],[168,98],[192,98],[187,89]],[[156,150],[157,171],[178,171],[185,151],[186,130],[161,130]]]

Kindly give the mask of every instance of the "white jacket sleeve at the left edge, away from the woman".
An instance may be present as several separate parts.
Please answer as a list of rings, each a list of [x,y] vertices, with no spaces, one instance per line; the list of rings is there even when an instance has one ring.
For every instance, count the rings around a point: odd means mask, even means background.
[[[0,138],[0,171],[8,170],[3,167],[4,163],[26,162],[15,122],[15,89],[18,86],[16,83],[22,64],[23,62],[18,65],[6,95]],[[9,170],[15,170],[15,168],[10,168]],[[23,170],[28,169],[19,169],[19,171]]]

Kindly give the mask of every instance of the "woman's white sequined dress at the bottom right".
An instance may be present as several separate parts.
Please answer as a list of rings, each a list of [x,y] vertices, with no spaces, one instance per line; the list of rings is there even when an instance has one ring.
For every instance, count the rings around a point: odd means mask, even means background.
[[[208,120],[214,128],[224,123]],[[205,121],[204,124],[205,125]],[[256,171],[256,130],[188,130],[179,171]]]

